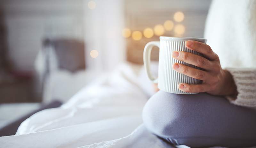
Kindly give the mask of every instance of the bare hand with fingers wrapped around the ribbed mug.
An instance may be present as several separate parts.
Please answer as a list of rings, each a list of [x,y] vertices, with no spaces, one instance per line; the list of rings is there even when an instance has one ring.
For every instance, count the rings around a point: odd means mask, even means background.
[[[209,45],[198,41],[186,41],[185,46],[188,49],[203,54],[203,56],[184,51],[173,51],[172,57],[179,61],[195,65],[201,68],[201,70],[181,63],[173,63],[172,68],[189,77],[203,80],[203,83],[180,83],[178,88],[181,91],[188,93],[207,92],[212,95],[233,95],[237,93],[232,75],[227,70],[221,68],[218,55],[212,51]]]

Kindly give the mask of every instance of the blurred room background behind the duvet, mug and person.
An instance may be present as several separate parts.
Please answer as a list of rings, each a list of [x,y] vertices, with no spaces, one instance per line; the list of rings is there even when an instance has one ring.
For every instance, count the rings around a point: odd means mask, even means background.
[[[143,64],[159,36],[203,37],[210,3],[0,0],[0,127],[40,102],[67,101],[119,63]]]

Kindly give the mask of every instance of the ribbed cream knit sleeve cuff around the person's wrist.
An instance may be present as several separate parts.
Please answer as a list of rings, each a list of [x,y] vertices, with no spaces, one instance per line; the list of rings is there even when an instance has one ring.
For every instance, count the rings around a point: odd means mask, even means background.
[[[233,76],[237,96],[226,96],[233,104],[246,107],[256,107],[256,69],[227,68]]]

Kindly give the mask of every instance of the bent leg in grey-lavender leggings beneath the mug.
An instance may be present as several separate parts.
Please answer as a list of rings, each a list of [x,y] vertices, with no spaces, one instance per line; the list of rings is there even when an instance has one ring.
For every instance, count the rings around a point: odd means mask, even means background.
[[[256,146],[256,111],[223,97],[158,91],[146,103],[142,117],[150,132],[175,145]]]

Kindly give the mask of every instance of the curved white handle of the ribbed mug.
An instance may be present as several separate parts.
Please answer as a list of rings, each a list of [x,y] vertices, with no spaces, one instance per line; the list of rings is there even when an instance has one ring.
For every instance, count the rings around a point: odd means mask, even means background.
[[[150,71],[150,56],[151,56],[151,50],[154,46],[157,46],[158,48],[160,48],[160,42],[159,41],[151,41],[146,44],[146,46],[144,48],[144,53],[143,53],[143,62],[144,62],[144,67],[145,67],[148,78],[153,83],[157,83],[158,79],[154,78]]]

